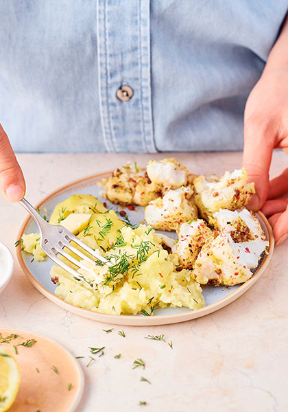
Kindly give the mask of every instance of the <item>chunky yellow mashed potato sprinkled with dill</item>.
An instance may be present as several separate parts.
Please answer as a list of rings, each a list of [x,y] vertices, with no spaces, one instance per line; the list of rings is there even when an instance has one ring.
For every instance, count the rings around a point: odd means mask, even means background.
[[[75,306],[108,314],[153,314],[156,307],[185,306],[194,310],[205,306],[200,284],[192,278],[191,271],[178,271],[177,256],[163,249],[163,237],[152,227],[140,225],[134,229],[125,225],[93,196],[88,198],[88,204],[97,207],[84,209],[78,201],[81,198],[87,201],[86,195],[71,196],[56,206],[51,218],[59,225],[67,216],[86,210],[91,218],[77,237],[99,249],[112,267],[86,262],[86,269],[78,269],[84,279],[78,281],[59,266],[52,266],[50,275],[57,284],[56,296]],[[33,253],[36,236],[25,236],[25,251]]]

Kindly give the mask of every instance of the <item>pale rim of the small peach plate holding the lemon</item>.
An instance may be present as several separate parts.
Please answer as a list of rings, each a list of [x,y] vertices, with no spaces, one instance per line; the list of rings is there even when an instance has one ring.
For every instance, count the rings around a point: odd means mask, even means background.
[[[24,333],[34,335],[33,337],[39,336],[41,339],[45,339],[46,341],[50,341],[50,342],[58,345],[62,350],[64,350],[64,352],[69,356],[69,358],[71,359],[71,362],[75,366],[75,369],[77,371],[77,375],[79,377],[79,385],[78,385],[78,388],[77,388],[77,392],[75,393],[75,397],[73,399],[73,403],[71,404],[71,407],[67,411],[67,412],[75,412],[77,407],[79,406],[80,401],[81,401],[82,396],[83,396],[85,378],[84,378],[84,372],[82,370],[82,367],[80,367],[80,364],[77,362],[75,357],[71,354],[71,352],[69,350],[67,350],[66,347],[61,345],[61,343],[59,343],[55,339],[50,338],[50,336],[40,334],[38,332],[33,332],[31,330],[25,330],[25,329],[17,329],[17,328],[0,328],[0,330],[4,331],[4,332],[5,331],[7,331],[7,332],[19,332],[17,334],[21,334],[21,333],[24,332]]]

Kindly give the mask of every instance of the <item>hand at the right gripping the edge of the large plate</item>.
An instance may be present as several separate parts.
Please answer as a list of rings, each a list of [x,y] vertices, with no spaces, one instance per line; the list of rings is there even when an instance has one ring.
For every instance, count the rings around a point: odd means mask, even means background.
[[[243,167],[254,181],[249,205],[269,217],[276,243],[288,237],[288,168],[269,181],[274,148],[288,149],[288,72],[263,73],[248,98],[244,116]]]

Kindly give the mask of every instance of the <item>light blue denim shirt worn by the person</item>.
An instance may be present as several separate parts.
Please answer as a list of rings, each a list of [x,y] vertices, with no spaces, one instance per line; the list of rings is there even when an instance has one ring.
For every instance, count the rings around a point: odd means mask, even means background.
[[[287,8],[1,0],[0,122],[18,152],[241,150],[245,102]]]

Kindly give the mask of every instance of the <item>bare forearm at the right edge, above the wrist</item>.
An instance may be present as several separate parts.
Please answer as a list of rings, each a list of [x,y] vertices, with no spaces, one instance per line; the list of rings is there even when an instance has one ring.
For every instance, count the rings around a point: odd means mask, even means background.
[[[263,75],[270,71],[288,71],[288,14],[269,54]]]

